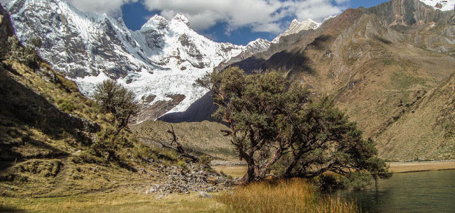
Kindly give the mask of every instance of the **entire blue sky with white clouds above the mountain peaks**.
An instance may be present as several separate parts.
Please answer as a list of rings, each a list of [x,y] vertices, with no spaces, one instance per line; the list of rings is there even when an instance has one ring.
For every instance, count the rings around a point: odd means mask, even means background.
[[[0,0],[1,1],[1,0]],[[198,33],[218,41],[246,45],[272,40],[296,18],[321,22],[348,8],[370,7],[387,0],[65,0],[82,11],[122,17],[135,31],[155,14],[186,16]]]

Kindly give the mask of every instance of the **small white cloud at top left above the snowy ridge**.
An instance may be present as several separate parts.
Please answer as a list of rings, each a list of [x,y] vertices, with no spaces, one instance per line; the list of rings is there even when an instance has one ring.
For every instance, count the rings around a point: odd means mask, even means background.
[[[106,13],[109,16],[122,16],[122,6],[138,0],[65,0],[81,11]]]

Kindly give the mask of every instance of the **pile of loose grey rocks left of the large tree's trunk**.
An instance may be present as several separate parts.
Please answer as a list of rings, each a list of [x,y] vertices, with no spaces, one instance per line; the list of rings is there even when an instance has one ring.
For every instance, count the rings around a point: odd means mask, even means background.
[[[183,167],[159,165],[156,171],[166,174],[166,180],[153,185],[146,193],[156,195],[157,198],[173,193],[231,190],[238,181],[238,178],[228,178],[212,170],[208,165],[198,163],[188,163]]]

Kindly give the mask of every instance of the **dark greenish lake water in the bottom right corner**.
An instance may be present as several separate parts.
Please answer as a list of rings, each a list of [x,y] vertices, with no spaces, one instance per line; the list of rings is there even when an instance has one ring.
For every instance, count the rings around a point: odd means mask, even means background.
[[[455,212],[455,170],[394,174],[378,190],[336,192],[363,212]]]

